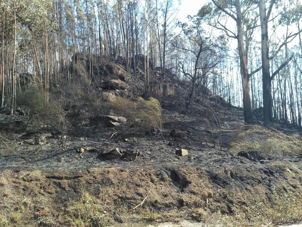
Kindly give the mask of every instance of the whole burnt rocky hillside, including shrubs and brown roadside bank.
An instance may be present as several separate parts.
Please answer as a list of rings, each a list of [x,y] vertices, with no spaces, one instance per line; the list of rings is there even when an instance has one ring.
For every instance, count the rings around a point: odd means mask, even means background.
[[[243,109],[210,92],[197,92],[189,109],[184,100],[143,100],[139,75],[99,61],[92,73],[101,71],[101,80],[89,87],[75,76],[39,106],[32,97],[44,96],[28,82],[19,108],[0,116],[1,226],[273,226],[301,219],[296,127],[261,127],[261,109],[254,112],[258,126],[244,126]],[[89,70],[83,62],[74,62],[77,73]],[[182,86],[184,99],[187,92]]]

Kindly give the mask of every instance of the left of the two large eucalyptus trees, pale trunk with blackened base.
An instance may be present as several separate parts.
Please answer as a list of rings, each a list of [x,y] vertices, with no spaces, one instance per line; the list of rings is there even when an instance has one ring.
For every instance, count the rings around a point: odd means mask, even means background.
[[[218,30],[225,32],[229,38],[234,38],[238,43],[238,54],[240,61],[240,74],[243,91],[244,121],[253,124],[253,112],[250,95],[250,77],[257,71],[248,70],[248,52],[252,34],[257,27],[258,15],[253,10],[252,0],[212,0],[204,5],[198,12],[198,16],[208,21],[208,24]],[[233,21],[229,24],[227,22]],[[232,26],[232,25],[236,26]],[[234,29],[236,28],[236,30]]]

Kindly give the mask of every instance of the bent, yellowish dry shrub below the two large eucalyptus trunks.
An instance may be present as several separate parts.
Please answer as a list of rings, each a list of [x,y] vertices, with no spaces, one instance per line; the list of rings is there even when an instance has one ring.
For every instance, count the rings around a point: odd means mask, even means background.
[[[256,150],[264,157],[302,156],[302,138],[299,135],[285,135],[274,128],[257,125],[237,129],[230,138],[230,146],[234,153]]]

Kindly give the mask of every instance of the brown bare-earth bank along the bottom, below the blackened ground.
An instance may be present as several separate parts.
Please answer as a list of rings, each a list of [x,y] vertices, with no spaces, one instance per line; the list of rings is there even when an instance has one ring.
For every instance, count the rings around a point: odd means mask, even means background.
[[[274,199],[272,183],[285,191],[301,187],[299,163],[275,161],[253,167],[241,158],[235,166],[217,161],[204,167],[164,169],[129,164],[129,168],[50,172],[2,170],[2,217],[9,220],[13,218],[9,214],[18,212],[19,226],[47,222],[70,226],[69,208],[85,192],[98,199],[97,206],[113,226],[118,222],[175,222],[190,220],[200,208],[209,214],[217,210],[233,214],[251,201],[263,201],[265,195]],[[146,197],[142,206],[133,209]]]

